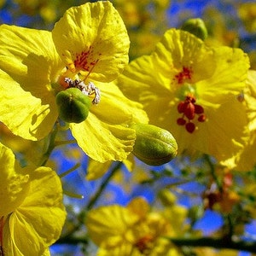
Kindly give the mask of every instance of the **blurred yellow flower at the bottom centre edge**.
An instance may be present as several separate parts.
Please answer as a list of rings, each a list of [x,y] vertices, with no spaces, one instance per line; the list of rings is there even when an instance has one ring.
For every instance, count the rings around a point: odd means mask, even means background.
[[[172,243],[161,238],[173,235],[171,225],[160,213],[149,212],[143,198],[134,199],[126,207],[93,209],[87,215],[86,226],[99,247],[97,255],[177,255]]]

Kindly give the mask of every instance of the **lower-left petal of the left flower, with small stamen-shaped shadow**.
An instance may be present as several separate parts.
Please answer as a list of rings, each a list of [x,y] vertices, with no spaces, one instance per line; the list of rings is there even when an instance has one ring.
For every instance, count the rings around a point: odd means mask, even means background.
[[[42,94],[44,100],[32,96],[1,70],[0,92],[0,121],[10,131],[30,140],[39,140],[49,134],[58,116],[52,94]]]

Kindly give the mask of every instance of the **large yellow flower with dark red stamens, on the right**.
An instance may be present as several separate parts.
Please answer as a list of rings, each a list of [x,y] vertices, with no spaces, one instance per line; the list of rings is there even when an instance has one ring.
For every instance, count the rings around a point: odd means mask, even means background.
[[[189,32],[170,29],[154,53],[131,61],[118,84],[143,103],[149,124],[172,132],[179,154],[196,149],[222,160],[244,143],[247,116],[236,96],[248,67],[241,49],[208,48]]]

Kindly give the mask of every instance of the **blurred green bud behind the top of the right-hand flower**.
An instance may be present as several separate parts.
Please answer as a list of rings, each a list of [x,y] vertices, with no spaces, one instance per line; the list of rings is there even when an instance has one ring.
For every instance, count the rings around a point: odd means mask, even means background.
[[[190,32],[191,34],[195,35],[197,38],[201,38],[205,40],[208,36],[207,27],[203,20],[196,18],[196,19],[189,19],[183,23],[181,27],[183,31]]]

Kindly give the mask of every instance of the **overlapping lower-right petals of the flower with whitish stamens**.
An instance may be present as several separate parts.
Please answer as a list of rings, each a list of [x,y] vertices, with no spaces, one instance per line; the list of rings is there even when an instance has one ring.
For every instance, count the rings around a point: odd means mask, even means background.
[[[90,158],[105,162],[125,160],[131,153],[135,131],[129,128],[132,121],[148,122],[139,105],[121,94],[116,85],[97,84],[101,102],[90,107],[89,116],[80,124],[71,124],[73,137]]]

